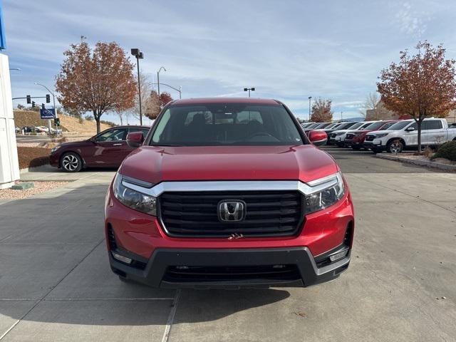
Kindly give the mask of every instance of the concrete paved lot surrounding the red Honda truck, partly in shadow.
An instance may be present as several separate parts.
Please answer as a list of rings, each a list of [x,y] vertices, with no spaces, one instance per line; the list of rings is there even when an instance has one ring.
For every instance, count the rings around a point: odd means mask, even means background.
[[[113,170],[24,175],[75,181],[0,205],[0,340],[456,341],[456,174],[325,150],[353,195],[353,259],[307,289],[124,284],[103,237]]]

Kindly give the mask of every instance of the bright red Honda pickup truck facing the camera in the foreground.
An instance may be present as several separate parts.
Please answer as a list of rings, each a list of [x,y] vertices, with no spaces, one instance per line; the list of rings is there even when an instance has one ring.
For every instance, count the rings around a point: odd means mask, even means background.
[[[309,286],[348,268],[353,204],[336,162],[277,100],[177,100],[105,200],[111,269],[154,287]]]

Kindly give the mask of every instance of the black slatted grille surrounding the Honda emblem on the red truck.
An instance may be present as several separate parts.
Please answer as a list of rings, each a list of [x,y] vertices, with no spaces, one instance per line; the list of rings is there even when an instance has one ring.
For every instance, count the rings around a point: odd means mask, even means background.
[[[227,199],[245,202],[242,221],[219,220],[217,204]],[[285,237],[301,227],[303,199],[298,191],[165,192],[159,199],[159,215],[173,237]]]

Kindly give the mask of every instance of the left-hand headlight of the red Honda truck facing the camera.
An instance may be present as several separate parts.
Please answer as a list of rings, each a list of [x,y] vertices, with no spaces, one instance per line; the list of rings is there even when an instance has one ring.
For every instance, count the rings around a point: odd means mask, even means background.
[[[125,187],[122,184],[122,175],[117,173],[113,182],[113,192],[115,198],[125,206],[145,212],[146,214],[157,216],[157,197],[143,194],[136,190]]]

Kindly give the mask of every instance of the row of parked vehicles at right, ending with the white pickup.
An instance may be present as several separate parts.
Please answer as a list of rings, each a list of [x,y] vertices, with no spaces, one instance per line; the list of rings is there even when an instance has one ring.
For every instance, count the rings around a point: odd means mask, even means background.
[[[328,135],[327,145],[351,147],[353,150],[363,148],[374,153],[399,153],[418,147],[418,124],[413,119],[342,122],[336,125],[305,123],[301,127],[307,134],[311,130],[323,130]],[[456,140],[456,125],[449,126],[446,119],[440,118],[423,121],[421,145],[436,147],[450,140]]]

